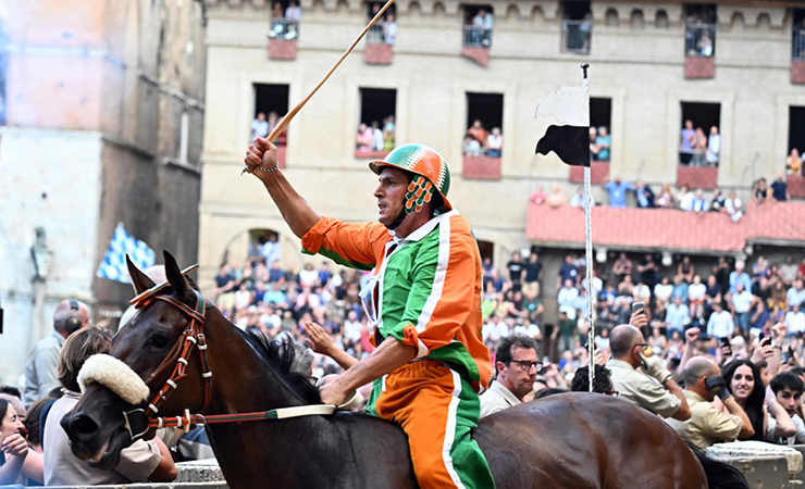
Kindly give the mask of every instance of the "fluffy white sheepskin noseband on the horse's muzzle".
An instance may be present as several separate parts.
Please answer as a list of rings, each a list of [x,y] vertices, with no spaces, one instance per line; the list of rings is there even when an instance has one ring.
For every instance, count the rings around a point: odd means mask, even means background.
[[[108,387],[129,404],[140,404],[148,399],[150,390],[146,383],[128,365],[111,355],[97,354],[84,362],[78,373],[82,393],[92,383]]]

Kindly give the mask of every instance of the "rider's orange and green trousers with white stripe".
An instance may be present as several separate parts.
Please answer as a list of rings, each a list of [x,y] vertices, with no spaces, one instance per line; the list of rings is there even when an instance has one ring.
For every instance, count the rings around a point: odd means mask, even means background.
[[[408,363],[375,383],[368,410],[398,423],[422,489],[494,489],[486,460],[470,436],[481,401],[470,383],[441,362]]]

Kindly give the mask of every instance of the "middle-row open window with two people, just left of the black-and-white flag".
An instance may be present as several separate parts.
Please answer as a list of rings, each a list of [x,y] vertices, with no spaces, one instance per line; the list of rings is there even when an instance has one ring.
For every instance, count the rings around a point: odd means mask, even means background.
[[[465,156],[500,158],[503,154],[503,95],[467,93]]]

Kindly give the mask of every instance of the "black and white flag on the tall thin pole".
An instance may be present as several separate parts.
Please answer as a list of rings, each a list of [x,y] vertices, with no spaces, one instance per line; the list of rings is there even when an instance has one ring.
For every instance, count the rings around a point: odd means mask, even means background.
[[[536,118],[548,124],[536,143],[536,154],[555,152],[573,166],[590,166],[590,95],[585,87],[562,87],[536,108]]]

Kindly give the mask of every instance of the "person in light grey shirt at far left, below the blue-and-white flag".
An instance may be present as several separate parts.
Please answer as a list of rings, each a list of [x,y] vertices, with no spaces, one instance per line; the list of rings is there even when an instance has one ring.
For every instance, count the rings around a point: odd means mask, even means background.
[[[23,403],[30,405],[59,387],[55,367],[64,341],[78,329],[90,326],[89,308],[75,300],[59,303],[53,313],[53,334],[36,343],[25,365]]]

